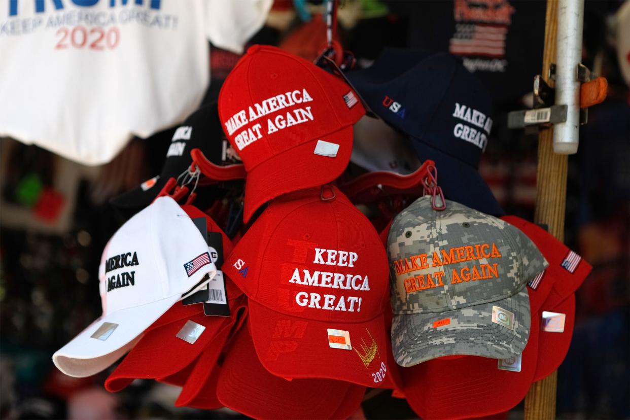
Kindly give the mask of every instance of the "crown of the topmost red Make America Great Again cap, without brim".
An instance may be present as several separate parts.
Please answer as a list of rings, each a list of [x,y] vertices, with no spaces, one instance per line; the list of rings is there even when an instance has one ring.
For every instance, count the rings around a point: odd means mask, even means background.
[[[339,77],[279,48],[260,45],[249,48],[219,94],[223,130],[248,171],[352,125],[364,113]]]

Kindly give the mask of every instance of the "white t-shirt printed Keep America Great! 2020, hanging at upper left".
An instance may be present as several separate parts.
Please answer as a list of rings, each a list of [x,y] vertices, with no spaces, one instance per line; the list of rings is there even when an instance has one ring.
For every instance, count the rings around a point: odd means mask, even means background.
[[[1,0],[0,136],[83,164],[181,122],[272,0]]]

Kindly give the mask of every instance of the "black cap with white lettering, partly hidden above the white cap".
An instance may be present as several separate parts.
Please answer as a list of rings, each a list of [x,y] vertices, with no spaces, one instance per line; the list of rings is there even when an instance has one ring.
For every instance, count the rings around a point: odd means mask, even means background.
[[[130,216],[151,204],[169,178],[177,178],[190,167],[193,162],[190,151],[193,149],[200,149],[203,156],[217,166],[232,163],[231,155],[229,152],[226,154],[225,149],[229,143],[221,128],[216,102],[200,106],[185,122],[170,132],[172,138],[162,172],[147,179],[134,190],[110,200],[120,214]],[[151,144],[151,139],[147,139],[147,143]]]

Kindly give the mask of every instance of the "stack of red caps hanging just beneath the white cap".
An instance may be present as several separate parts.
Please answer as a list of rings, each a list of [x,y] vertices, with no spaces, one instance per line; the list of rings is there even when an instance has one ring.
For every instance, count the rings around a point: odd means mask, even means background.
[[[207,232],[221,234],[226,254],[232,243],[226,234],[205,213],[191,205],[182,206],[192,219],[205,219]],[[142,338],[125,356],[105,381],[105,388],[119,391],[134,379],[155,379],[183,387],[177,406],[218,408],[212,393],[215,387],[211,373],[217,364],[229,336],[237,331],[244,319],[246,299],[226,278],[229,316],[209,316],[201,304],[183,305],[178,302],[144,332]]]

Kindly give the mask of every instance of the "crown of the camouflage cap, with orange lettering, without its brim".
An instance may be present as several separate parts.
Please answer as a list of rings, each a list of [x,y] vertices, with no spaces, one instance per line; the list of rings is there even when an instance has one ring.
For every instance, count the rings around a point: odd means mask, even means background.
[[[395,314],[443,312],[514,295],[548,265],[530,239],[503,220],[430,196],[403,210],[388,237]]]

